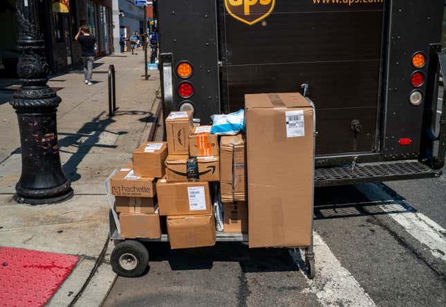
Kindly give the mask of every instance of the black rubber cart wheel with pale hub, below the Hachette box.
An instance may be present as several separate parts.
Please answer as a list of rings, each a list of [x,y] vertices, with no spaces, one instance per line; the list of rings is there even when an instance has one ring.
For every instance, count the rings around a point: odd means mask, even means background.
[[[122,277],[138,277],[147,269],[149,252],[142,243],[125,240],[118,243],[111,252],[111,268]]]

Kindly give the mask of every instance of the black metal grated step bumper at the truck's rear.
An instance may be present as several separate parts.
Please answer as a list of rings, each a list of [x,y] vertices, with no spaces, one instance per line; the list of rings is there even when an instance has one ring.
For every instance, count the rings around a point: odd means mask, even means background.
[[[441,171],[418,161],[396,161],[315,170],[315,187],[440,177]]]

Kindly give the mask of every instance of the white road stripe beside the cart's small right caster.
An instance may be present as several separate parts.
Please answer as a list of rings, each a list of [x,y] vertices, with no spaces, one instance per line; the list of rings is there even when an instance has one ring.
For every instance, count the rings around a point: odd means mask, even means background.
[[[316,277],[308,280],[308,288],[304,293],[315,293],[322,306],[376,306],[375,302],[364,291],[351,273],[337,260],[328,245],[316,232],[313,232]],[[304,251],[290,255],[302,268],[300,255]]]

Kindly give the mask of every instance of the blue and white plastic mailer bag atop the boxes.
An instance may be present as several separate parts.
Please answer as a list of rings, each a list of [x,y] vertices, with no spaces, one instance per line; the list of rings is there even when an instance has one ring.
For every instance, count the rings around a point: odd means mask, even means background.
[[[245,110],[241,109],[229,114],[212,115],[211,133],[219,136],[235,136],[245,132]]]

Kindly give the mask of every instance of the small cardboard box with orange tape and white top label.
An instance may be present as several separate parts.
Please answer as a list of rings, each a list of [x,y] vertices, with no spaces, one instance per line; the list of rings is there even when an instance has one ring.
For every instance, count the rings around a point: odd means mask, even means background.
[[[211,133],[212,126],[198,126],[189,134],[191,157],[219,156],[219,137]]]

